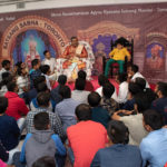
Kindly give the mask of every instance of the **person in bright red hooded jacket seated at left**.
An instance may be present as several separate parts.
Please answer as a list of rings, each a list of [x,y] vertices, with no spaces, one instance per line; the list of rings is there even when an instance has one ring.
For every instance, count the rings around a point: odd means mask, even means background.
[[[8,108],[6,110],[6,114],[17,120],[21,132],[24,128],[26,121],[23,116],[27,116],[29,109],[26,106],[24,100],[18,96],[17,92],[19,89],[14,81],[9,82],[7,85],[7,88],[8,91],[6,92],[4,97],[8,98]]]

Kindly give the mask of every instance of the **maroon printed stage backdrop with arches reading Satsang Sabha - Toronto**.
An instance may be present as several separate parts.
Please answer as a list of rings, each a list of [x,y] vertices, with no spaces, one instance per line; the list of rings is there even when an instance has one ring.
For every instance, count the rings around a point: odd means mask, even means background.
[[[0,60],[24,61],[31,51],[58,58],[71,36],[90,43],[92,75],[102,71],[110,40],[134,39],[134,62],[150,82],[167,81],[167,3],[117,4],[0,13]]]

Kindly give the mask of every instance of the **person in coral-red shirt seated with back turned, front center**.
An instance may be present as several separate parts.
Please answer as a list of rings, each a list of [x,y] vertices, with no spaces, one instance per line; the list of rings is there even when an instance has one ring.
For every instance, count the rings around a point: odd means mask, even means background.
[[[69,156],[73,167],[89,167],[100,148],[108,143],[105,127],[91,120],[91,109],[81,104],[76,108],[78,124],[67,129]]]

